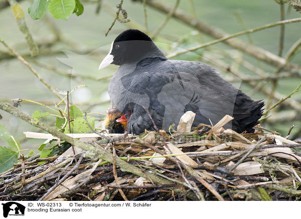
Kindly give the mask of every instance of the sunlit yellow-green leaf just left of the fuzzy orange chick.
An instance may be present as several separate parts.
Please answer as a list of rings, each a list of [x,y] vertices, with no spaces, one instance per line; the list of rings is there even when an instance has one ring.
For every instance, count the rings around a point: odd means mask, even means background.
[[[94,122],[95,118],[93,117],[87,117],[88,123],[90,126],[95,129]],[[85,133],[88,131],[91,131],[90,127],[86,123],[86,120],[82,117],[74,119],[72,122],[70,122],[70,128],[71,133]],[[65,128],[65,134],[69,133],[69,126],[67,125]]]

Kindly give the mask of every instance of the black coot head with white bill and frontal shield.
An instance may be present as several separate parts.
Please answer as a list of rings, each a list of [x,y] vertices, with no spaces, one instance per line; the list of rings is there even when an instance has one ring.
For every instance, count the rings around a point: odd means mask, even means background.
[[[99,69],[109,64],[122,65],[139,61],[146,53],[156,52],[158,47],[149,36],[139,30],[126,30],[112,42],[109,54],[99,65]]]

